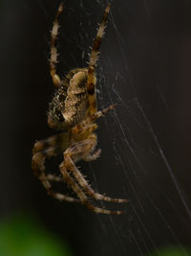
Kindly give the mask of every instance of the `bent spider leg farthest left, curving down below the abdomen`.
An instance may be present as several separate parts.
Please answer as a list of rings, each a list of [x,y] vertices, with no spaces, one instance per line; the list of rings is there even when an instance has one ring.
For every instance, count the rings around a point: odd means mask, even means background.
[[[67,197],[65,195],[62,195],[60,193],[53,192],[52,184],[49,180],[49,178],[45,175],[45,159],[48,157],[53,156],[56,154],[55,148],[48,148],[44,151],[38,151],[33,154],[32,156],[32,170],[34,172],[34,175],[37,175],[38,178],[41,180],[43,186],[47,190],[48,194],[52,196],[53,198],[59,199],[59,200],[65,200],[65,201],[71,201],[71,202],[80,202],[79,199]]]

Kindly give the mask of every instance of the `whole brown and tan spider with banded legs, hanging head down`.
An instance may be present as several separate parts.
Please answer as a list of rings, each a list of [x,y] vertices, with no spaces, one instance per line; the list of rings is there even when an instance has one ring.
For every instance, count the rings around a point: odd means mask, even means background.
[[[48,125],[50,128],[61,130],[47,139],[37,141],[32,149],[32,170],[41,180],[48,194],[56,199],[79,202],[95,213],[102,214],[123,214],[123,211],[111,211],[105,208],[96,207],[92,198],[111,202],[127,202],[126,199],[109,198],[96,193],[85,177],[75,166],[79,160],[93,161],[100,154],[96,150],[96,119],[112,110],[116,105],[110,105],[101,111],[96,107],[96,62],[101,38],[104,35],[106,20],[110,12],[110,4],[106,7],[100,23],[89,66],[86,68],[75,68],[68,75],[61,79],[56,73],[57,49],[55,42],[58,35],[58,18],[63,11],[61,3],[55,15],[53,30],[51,32],[51,59],[50,74],[55,86],[53,101],[49,105]],[[64,160],[59,169],[61,176],[46,175],[45,160],[63,153]],[[74,191],[77,198],[65,196],[53,191],[52,182],[65,182]]]

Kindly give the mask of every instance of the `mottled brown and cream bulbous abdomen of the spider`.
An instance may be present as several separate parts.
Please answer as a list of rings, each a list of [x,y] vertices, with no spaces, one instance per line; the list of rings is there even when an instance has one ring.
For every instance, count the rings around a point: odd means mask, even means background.
[[[54,94],[48,113],[51,128],[68,129],[79,124],[87,112],[86,68],[72,70]]]

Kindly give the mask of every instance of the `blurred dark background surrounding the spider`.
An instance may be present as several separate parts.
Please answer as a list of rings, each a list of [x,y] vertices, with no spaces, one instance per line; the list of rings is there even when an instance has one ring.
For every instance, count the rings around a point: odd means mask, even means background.
[[[191,255],[191,2],[114,0],[97,67],[100,158],[81,171],[100,193],[130,202],[104,216],[47,196],[32,174],[32,146],[54,133],[50,30],[60,1],[0,1],[0,218],[25,212],[74,255]],[[105,1],[65,1],[59,74],[84,67]],[[60,161],[58,159],[58,161]],[[50,163],[54,169],[58,163]],[[107,204],[122,209],[124,205]]]

